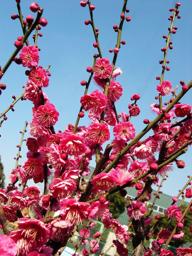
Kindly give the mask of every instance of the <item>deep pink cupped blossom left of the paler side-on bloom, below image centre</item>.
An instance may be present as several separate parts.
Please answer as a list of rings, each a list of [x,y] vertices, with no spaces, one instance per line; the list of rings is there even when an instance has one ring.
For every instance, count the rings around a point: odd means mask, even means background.
[[[100,190],[109,190],[115,185],[115,181],[111,177],[110,172],[108,173],[100,173],[92,179],[92,183],[95,188]]]

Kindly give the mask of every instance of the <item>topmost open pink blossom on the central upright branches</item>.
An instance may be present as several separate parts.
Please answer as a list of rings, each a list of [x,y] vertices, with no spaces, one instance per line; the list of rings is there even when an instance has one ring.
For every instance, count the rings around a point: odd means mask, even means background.
[[[95,63],[94,73],[99,78],[108,78],[111,75],[112,66],[106,58],[97,59]]]

